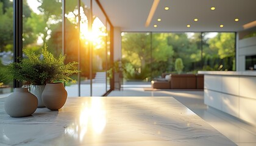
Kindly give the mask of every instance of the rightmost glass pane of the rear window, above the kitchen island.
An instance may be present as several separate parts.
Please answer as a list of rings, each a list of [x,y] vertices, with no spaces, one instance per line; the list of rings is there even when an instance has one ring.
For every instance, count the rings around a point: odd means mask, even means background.
[[[203,33],[203,69],[235,71],[235,33]]]

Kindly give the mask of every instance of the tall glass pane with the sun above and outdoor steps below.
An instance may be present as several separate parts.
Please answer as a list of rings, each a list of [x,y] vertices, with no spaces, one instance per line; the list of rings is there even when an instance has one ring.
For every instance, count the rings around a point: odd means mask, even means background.
[[[93,52],[93,96],[102,96],[107,91],[106,18],[99,5],[93,1],[93,25],[91,44]]]

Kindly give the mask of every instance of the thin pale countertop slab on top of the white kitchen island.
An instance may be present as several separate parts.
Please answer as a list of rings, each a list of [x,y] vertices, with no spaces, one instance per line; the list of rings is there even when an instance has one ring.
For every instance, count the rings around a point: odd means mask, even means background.
[[[256,76],[256,71],[198,71],[198,74],[205,75],[241,75],[241,76]]]

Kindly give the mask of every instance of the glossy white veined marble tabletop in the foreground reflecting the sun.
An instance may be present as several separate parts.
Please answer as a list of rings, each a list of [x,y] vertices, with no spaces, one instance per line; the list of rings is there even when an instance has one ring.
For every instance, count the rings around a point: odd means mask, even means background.
[[[19,118],[4,100],[0,145],[236,145],[172,97],[68,97]]]

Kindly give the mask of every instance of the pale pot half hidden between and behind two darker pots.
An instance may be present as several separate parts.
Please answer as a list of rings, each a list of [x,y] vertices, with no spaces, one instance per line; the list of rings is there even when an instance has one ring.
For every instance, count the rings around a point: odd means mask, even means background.
[[[41,98],[44,87],[45,87],[45,85],[31,85],[30,86],[30,93],[34,94],[34,96],[36,96],[38,99],[38,105],[37,105],[38,108],[45,107],[43,104],[42,98]]]

